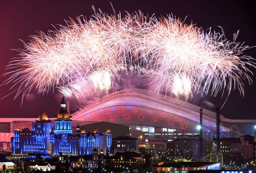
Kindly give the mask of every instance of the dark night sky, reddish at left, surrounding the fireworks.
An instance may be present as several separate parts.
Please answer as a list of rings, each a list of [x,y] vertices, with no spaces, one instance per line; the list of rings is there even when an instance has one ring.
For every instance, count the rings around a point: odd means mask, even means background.
[[[134,12],[140,9],[143,13],[156,16],[173,13],[175,16],[185,19],[187,23],[193,23],[204,30],[212,27],[221,32],[218,26],[222,26],[225,35],[233,39],[233,33],[240,30],[238,41],[246,45],[256,45],[256,13],[255,6],[244,0],[234,2],[232,0],[111,0],[116,11]],[[5,66],[17,55],[12,49],[22,48],[23,40],[27,42],[29,35],[35,35],[36,31],[47,32],[53,30],[51,24],[63,24],[68,17],[77,15],[90,16],[93,14],[91,6],[101,8],[102,11],[112,13],[112,7],[108,0],[1,0],[0,1],[0,74],[4,73]],[[246,51],[246,54],[256,58],[256,48]],[[256,70],[253,70],[256,74]],[[0,82],[6,77],[1,76]],[[252,77],[256,83],[256,77]],[[238,92],[232,92],[223,106],[221,113],[227,118],[256,119],[256,85],[246,83],[245,96]],[[0,97],[6,96],[11,86],[0,87]],[[54,92],[47,96],[32,94],[21,105],[21,97],[13,101],[14,95],[0,100],[0,117],[36,117],[40,111],[47,111],[50,117],[54,117],[59,109],[61,94]],[[222,106],[226,97],[216,98],[195,96],[192,103],[204,108],[215,109],[212,105]],[[72,106],[72,105],[71,105]]]

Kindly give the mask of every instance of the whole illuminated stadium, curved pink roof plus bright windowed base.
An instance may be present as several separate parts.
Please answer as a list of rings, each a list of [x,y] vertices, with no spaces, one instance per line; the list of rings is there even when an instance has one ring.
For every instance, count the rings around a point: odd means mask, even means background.
[[[128,89],[115,92],[98,102],[75,112],[73,120],[106,121],[130,126],[133,137],[143,135],[143,140],[170,141],[177,135],[199,133],[200,107],[173,97],[155,94],[148,90]],[[241,123],[253,127],[254,120],[230,120],[221,115],[222,136],[242,135],[237,127]],[[249,122],[249,123],[248,123]],[[244,124],[243,124],[244,126]],[[203,109],[203,136],[211,140],[216,134],[216,113]],[[248,130],[247,130],[248,131]],[[251,128],[248,132],[255,135]]]

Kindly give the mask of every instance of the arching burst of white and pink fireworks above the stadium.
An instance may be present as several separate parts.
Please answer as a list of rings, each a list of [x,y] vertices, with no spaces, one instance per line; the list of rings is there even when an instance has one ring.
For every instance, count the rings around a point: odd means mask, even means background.
[[[188,98],[192,91],[229,95],[233,89],[243,95],[244,82],[252,82],[249,67],[255,67],[253,58],[243,54],[247,49],[222,33],[206,33],[170,15],[122,17],[99,11],[88,20],[80,16],[33,36],[7,66],[9,78],[3,84],[12,85],[15,98],[55,88],[79,98],[108,93],[120,74],[136,73],[148,77],[155,92],[177,97]]]

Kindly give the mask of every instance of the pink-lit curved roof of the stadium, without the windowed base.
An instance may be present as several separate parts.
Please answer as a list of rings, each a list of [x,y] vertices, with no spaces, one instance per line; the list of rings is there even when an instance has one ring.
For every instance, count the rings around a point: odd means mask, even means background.
[[[127,89],[115,92],[75,112],[73,120],[106,121],[128,125],[195,130],[200,107],[148,90]],[[220,116],[221,120],[225,119]],[[203,127],[216,130],[216,113],[203,109]],[[221,132],[230,128],[221,126]]]

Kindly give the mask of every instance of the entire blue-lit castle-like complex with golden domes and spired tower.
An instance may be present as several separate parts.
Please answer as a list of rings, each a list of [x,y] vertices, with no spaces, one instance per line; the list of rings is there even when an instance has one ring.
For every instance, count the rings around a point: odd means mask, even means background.
[[[92,154],[96,148],[98,152],[110,151],[112,133],[108,128],[106,132],[98,132],[95,127],[93,133],[80,130],[77,125],[75,133],[72,131],[72,117],[67,112],[64,97],[61,100],[61,109],[54,123],[42,112],[32,130],[24,128],[15,129],[12,137],[13,154],[28,154],[32,159],[40,154],[41,158],[48,158],[49,154]]]

